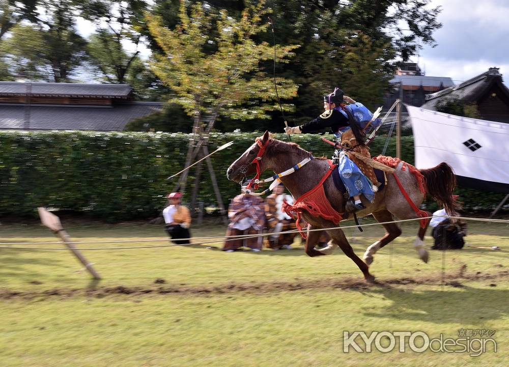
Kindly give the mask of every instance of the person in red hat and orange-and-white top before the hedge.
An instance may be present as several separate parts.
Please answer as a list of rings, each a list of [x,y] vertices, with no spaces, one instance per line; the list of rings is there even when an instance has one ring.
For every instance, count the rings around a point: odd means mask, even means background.
[[[166,223],[166,232],[171,237],[173,243],[191,243],[188,240],[191,237],[189,232],[191,214],[189,209],[182,206],[182,193],[172,192],[167,194],[166,197],[169,205],[162,211],[164,222]]]

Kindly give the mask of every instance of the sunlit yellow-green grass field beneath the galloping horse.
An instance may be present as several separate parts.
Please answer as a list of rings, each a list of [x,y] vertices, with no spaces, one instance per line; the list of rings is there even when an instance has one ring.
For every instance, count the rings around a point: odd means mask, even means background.
[[[66,227],[75,241],[165,236],[160,226],[135,223]],[[68,251],[0,249],[0,367],[507,366],[507,224],[469,223],[468,244],[500,251],[431,251],[429,264],[412,248],[417,224],[403,231],[375,256],[379,283],[369,286],[340,251],[308,258],[299,241],[293,250],[259,253],[206,248],[220,242],[84,250],[104,278],[98,284]],[[362,237],[345,232],[355,236],[359,256],[383,234],[378,226]],[[223,233],[214,222],[192,229],[193,236]],[[54,240],[40,225],[0,225],[1,242]],[[140,245],[147,243],[79,246]],[[495,330],[497,352],[416,353],[408,345],[405,352],[343,351],[344,331],[457,337],[462,328]]]

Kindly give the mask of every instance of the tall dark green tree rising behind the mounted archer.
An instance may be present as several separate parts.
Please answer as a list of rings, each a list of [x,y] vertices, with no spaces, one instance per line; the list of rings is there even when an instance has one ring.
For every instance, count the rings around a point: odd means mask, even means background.
[[[436,21],[440,7],[430,9],[429,4],[430,0],[268,0],[276,41],[302,45],[291,64],[277,69],[278,75],[299,84],[295,123],[318,116],[321,96],[334,87],[366,105],[380,101],[382,90],[389,88],[394,59],[408,59],[419,44],[435,44],[432,35],[441,26]],[[364,66],[357,67],[354,59]],[[375,78],[380,83],[374,86],[376,93],[369,93]]]

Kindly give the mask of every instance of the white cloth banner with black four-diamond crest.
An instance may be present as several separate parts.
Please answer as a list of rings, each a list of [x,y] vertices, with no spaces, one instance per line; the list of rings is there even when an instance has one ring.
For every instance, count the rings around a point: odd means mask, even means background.
[[[417,168],[446,162],[457,176],[509,185],[509,124],[406,107]]]

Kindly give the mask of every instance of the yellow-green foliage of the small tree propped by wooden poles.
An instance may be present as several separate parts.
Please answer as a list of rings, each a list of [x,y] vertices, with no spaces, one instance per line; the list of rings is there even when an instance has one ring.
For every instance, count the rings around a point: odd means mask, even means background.
[[[188,15],[181,2],[175,29],[164,27],[161,17],[146,14],[150,33],[162,49],[154,54],[152,69],[175,92],[172,101],[181,104],[187,114],[246,120],[268,118],[266,111],[278,108],[269,103],[276,97],[272,80],[259,71],[262,61],[272,59],[273,49],[254,39],[267,30],[263,7],[261,1],[244,10],[239,20],[222,10],[213,31],[212,16],[200,3]],[[210,45],[214,52],[208,51]],[[279,62],[288,62],[296,47],[278,46]],[[277,82],[282,98],[295,96],[296,85],[291,80],[278,78]]]

